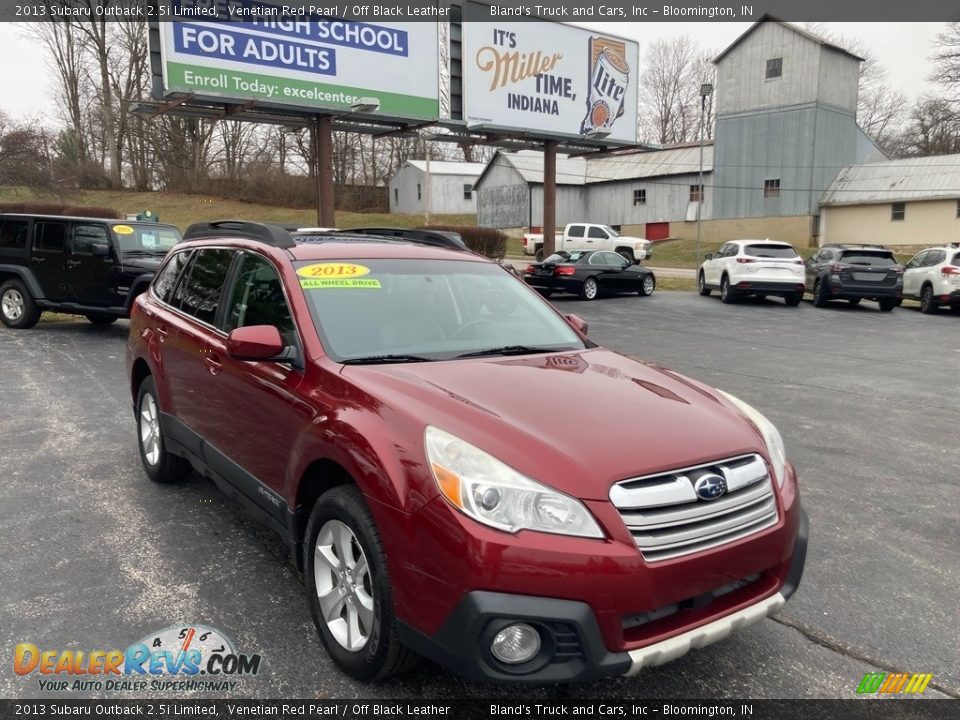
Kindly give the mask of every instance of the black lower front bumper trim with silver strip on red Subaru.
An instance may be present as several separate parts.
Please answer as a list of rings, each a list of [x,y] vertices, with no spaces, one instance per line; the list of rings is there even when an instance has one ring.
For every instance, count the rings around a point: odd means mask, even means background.
[[[762,598],[707,622],[642,647],[610,651],[594,610],[585,602],[490,591],[466,593],[432,635],[399,623],[401,642],[431,660],[474,680],[498,682],[569,682],[610,675],[636,675],[644,667],[674,660],[776,614],[796,592],[806,562],[809,520],[797,508],[792,555],[777,586]],[[689,612],[695,612],[690,610]],[[541,635],[542,649],[532,660],[505,665],[490,652],[503,627],[524,622]]]

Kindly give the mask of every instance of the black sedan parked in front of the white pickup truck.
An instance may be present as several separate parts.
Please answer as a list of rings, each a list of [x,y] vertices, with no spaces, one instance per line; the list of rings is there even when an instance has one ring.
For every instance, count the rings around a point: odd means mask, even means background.
[[[544,297],[565,292],[582,300],[623,292],[649,295],[657,285],[651,270],[607,250],[554,253],[543,262],[528,265],[523,279]]]

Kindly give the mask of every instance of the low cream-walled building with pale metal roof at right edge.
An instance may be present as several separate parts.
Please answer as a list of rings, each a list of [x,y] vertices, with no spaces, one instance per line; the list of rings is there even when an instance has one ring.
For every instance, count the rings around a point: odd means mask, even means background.
[[[960,155],[843,168],[823,197],[820,243],[960,240]]]

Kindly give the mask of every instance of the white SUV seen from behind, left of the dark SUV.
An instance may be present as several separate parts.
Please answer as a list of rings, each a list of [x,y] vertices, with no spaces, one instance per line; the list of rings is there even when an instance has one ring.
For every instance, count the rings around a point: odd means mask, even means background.
[[[803,259],[789,243],[731,240],[704,258],[697,273],[701,295],[719,290],[725,303],[739,295],[778,295],[791,307],[803,298]]]

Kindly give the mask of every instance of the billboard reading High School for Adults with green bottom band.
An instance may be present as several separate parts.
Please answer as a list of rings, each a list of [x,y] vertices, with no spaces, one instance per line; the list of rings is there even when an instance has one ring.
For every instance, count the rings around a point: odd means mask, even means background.
[[[253,5],[273,7],[244,3]],[[344,112],[360,98],[376,98],[376,114],[439,117],[436,22],[220,17],[245,19],[159,23],[165,92]]]

